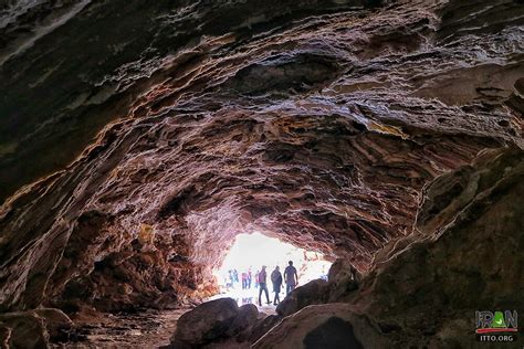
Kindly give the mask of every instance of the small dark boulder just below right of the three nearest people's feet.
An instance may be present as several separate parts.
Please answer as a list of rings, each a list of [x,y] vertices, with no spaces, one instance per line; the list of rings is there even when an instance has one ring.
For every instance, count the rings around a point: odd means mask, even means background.
[[[276,306],[276,314],[284,317],[298,311],[312,304],[322,304],[327,300],[327,283],[318,278],[296,287]]]

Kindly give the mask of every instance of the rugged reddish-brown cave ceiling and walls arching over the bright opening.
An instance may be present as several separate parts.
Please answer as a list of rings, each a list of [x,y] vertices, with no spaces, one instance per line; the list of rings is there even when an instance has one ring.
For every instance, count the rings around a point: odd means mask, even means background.
[[[522,1],[13,0],[0,19],[1,310],[205,296],[254,230],[365,272],[436,177],[522,156]],[[443,226],[444,199],[418,222]]]

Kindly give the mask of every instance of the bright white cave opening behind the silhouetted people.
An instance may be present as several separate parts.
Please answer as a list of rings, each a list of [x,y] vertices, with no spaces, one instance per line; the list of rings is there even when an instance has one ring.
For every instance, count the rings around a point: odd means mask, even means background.
[[[259,285],[256,275],[263,265],[266,266],[268,289],[273,299],[273,285],[271,273],[275,266],[280,267],[282,275],[289,261],[293,261],[298,275],[298,286],[316,278],[327,278],[331,262],[326,261],[319,252],[306,251],[270,237],[261,233],[238,234],[222,265],[213,271],[220,294],[213,298],[231,297],[239,305],[256,304]],[[285,296],[285,285],[280,293],[281,300]]]

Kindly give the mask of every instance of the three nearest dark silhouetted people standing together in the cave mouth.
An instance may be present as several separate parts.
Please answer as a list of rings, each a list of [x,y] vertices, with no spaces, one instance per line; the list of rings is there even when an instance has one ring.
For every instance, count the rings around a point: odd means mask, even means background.
[[[296,285],[298,284],[298,274],[296,273],[296,268],[293,266],[293,261],[287,263],[289,265],[284,269],[284,275],[280,272],[280,267],[275,266],[273,272],[271,273],[271,283],[273,284],[273,305],[277,305],[280,303],[280,292],[282,289],[282,284],[285,284],[285,295],[292,292]],[[262,269],[259,272],[256,277],[258,286],[259,286],[259,306],[262,306],[262,293],[265,293],[265,299],[268,304],[270,302],[270,295],[268,290],[268,274],[265,272],[265,265],[262,266]]]

